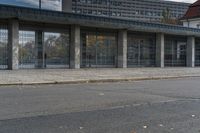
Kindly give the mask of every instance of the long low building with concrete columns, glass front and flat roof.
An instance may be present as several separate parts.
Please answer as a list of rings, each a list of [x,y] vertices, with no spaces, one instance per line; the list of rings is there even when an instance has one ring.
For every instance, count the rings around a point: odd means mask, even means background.
[[[1,69],[200,65],[200,29],[6,5],[0,12]]]

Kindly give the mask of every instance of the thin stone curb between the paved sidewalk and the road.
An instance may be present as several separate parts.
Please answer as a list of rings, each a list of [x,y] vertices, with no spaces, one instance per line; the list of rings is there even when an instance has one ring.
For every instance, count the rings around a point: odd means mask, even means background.
[[[165,77],[141,77],[141,78],[120,78],[120,79],[83,79],[73,81],[46,81],[46,82],[31,82],[31,83],[0,83],[0,86],[12,85],[48,85],[48,84],[84,84],[84,83],[114,83],[114,82],[132,82],[145,80],[162,80],[162,79],[178,79],[178,78],[192,78],[200,76],[165,76]]]

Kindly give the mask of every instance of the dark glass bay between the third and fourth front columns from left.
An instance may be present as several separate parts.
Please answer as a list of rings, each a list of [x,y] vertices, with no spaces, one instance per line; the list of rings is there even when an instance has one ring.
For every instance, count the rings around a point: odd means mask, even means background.
[[[129,34],[128,67],[153,67],[156,62],[156,36],[154,34]]]

